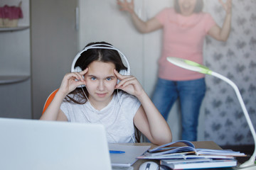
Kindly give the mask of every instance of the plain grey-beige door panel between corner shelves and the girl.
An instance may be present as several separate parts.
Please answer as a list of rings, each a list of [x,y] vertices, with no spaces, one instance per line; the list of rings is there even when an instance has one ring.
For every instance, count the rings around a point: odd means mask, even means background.
[[[31,1],[33,118],[40,118],[48,95],[70,72],[77,53],[73,0]]]

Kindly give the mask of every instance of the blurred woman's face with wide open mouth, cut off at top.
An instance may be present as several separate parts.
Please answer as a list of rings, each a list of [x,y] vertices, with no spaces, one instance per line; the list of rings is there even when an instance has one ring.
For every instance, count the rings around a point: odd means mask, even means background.
[[[191,16],[196,6],[197,0],[178,0],[178,5],[181,8],[183,16]]]

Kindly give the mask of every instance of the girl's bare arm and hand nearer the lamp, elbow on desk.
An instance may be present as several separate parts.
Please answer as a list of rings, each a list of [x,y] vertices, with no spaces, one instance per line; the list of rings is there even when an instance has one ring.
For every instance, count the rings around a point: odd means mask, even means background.
[[[134,125],[156,145],[171,142],[172,136],[169,125],[147,96],[139,81],[133,76],[122,76],[116,70],[114,70],[114,74],[121,80],[116,89],[122,89],[128,94],[136,96],[142,103],[134,116]]]

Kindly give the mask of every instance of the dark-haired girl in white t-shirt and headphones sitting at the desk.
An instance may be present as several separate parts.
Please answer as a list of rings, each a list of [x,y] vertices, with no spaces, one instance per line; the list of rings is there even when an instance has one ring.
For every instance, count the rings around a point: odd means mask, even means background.
[[[169,125],[139,81],[119,74],[127,68],[118,51],[106,42],[86,48],[75,62],[82,71],[65,74],[41,120],[101,123],[112,143],[135,142],[134,125],[156,145],[171,142]]]

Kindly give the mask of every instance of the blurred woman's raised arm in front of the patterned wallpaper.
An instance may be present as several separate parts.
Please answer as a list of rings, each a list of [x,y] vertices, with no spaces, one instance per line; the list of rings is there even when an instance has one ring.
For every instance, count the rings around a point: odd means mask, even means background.
[[[223,23],[222,28],[220,28],[218,25],[215,25],[212,28],[210,28],[210,30],[208,31],[208,35],[215,38],[216,40],[226,41],[228,40],[231,28],[232,0],[228,0],[226,1],[226,3],[223,3],[222,0],[219,1],[226,11],[225,21]]]

